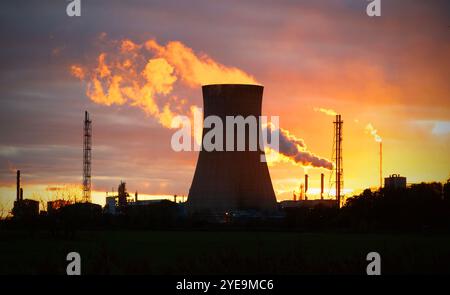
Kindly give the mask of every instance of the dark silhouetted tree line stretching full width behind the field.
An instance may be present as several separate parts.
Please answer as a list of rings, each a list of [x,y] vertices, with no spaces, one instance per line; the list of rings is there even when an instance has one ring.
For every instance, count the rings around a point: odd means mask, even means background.
[[[344,230],[450,231],[450,179],[445,183],[413,184],[405,189],[364,190],[348,198],[343,207],[294,207],[281,218],[250,218],[208,222],[183,216],[182,205],[171,201],[125,207],[123,214],[105,214],[99,205],[75,203],[34,218],[9,219],[0,227],[45,229],[53,235],[72,236],[86,229],[276,229],[298,231]]]

